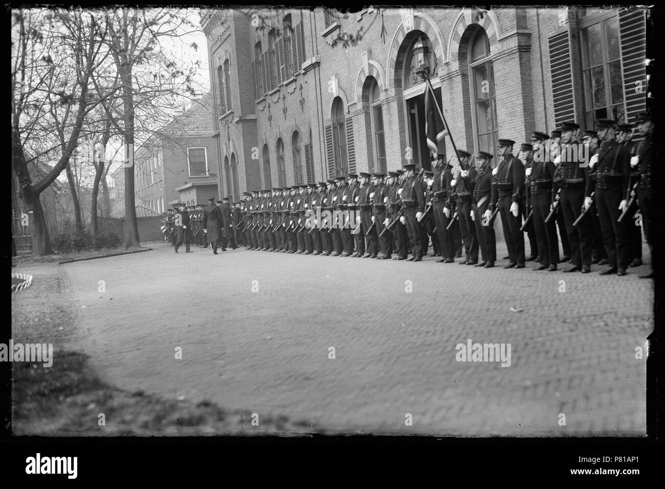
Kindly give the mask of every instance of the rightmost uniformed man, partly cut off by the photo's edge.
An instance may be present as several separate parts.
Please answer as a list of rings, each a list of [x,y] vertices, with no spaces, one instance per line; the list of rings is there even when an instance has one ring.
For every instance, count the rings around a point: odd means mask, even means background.
[[[633,168],[640,169],[640,185],[637,188],[637,198],[642,215],[642,228],[644,228],[644,238],[651,250],[651,271],[646,275],[640,275],[640,279],[650,279],[654,277],[654,257],[653,234],[651,230],[651,219],[654,212],[653,195],[653,175],[652,166],[654,160],[654,122],[648,112],[640,112],[637,116],[637,128],[644,139],[640,141],[636,155],[632,157],[630,164]],[[630,226],[632,223],[629,223]]]

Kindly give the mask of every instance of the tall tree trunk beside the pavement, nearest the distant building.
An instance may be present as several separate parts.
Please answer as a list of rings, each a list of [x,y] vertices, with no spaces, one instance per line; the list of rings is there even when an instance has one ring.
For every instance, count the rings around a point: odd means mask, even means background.
[[[136,203],[134,200],[134,96],[132,94],[132,73],[125,67],[122,74],[122,104],[124,108],[125,139],[125,248],[140,247]]]

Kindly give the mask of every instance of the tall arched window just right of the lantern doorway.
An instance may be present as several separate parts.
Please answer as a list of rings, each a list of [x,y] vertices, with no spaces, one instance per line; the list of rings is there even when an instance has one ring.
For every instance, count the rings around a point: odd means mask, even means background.
[[[497,102],[494,70],[489,53],[489,39],[484,29],[477,29],[469,38],[469,79],[473,103],[473,128],[477,150],[495,152],[497,143]]]

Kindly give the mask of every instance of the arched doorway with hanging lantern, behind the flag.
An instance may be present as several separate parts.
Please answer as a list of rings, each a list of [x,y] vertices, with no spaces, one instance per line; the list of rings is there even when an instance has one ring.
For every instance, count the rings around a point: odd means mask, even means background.
[[[422,31],[411,31],[404,37],[396,60],[394,84],[401,88],[406,120],[405,159],[425,170],[432,169],[432,157],[427,145],[425,128],[426,82],[416,74],[420,63],[430,67],[430,81],[436,100],[441,104],[440,67],[432,41]],[[435,109],[436,110],[436,109]],[[446,153],[445,144],[440,144],[439,153]]]

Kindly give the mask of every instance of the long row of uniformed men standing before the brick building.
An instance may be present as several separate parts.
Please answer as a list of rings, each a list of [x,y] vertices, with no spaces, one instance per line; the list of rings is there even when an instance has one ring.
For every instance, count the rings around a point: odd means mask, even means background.
[[[515,142],[499,139],[497,158],[458,150],[458,168],[439,157],[432,172],[406,164],[387,175],[349,174],[318,184],[244,192],[244,202],[233,204],[232,218],[228,204],[211,199],[209,206],[193,211],[199,218],[192,226],[203,231],[195,232],[195,244],[209,243],[217,253],[215,244],[221,240],[225,250],[224,240],[231,238],[231,247],[245,244],[258,251],[422,261],[431,240],[437,262],[453,263],[462,257],[464,244],[466,257],[458,263],[491,268],[497,261],[493,223],[501,214],[508,249],[503,259],[509,260],[503,268],[535,261],[535,270],[556,271],[559,263],[569,263],[564,272],[589,273],[591,264],[599,263],[606,265],[601,275],[626,275],[628,266],[642,265],[640,220],[652,247],[653,121],[648,112],[640,112],[634,126],[599,119],[595,130],[581,135],[579,127],[564,122],[550,136],[533,132],[517,157]],[[634,127],[644,136],[639,145],[630,140]],[[551,158],[534,158],[547,140]],[[580,158],[581,144],[591,158]],[[308,210],[323,222],[307,224]],[[344,211],[358,220],[336,222]],[[175,228],[177,251],[182,240]]]

